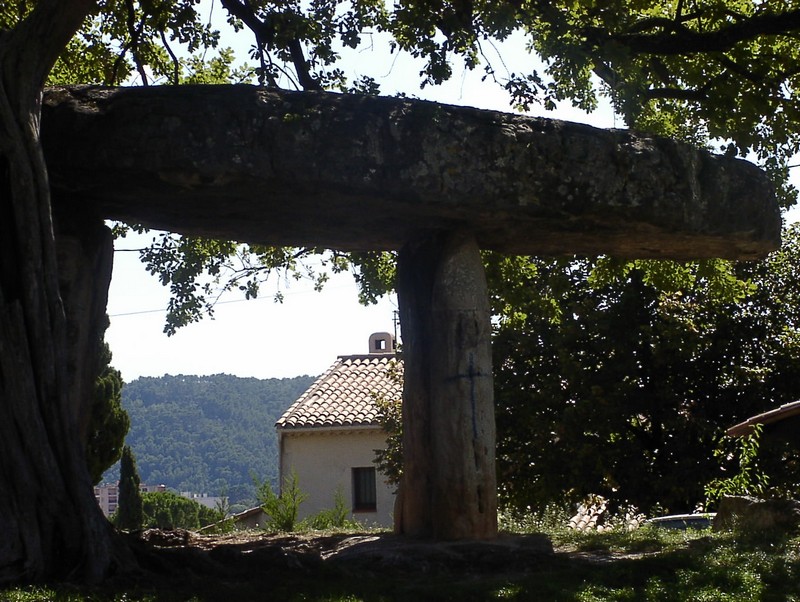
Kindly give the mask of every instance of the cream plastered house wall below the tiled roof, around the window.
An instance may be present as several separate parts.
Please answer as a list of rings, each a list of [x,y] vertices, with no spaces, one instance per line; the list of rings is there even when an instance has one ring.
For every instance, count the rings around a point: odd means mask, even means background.
[[[378,472],[375,478],[374,512],[352,512],[352,469],[374,467],[375,450],[386,447],[386,433],[380,429],[354,431],[300,432],[281,435],[281,483],[292,470],[300,490],[308,499],[300,505],[299,518],[332,508],[340,489],[351,516],[360,523],[391,527],[394,513],[393,489]]]

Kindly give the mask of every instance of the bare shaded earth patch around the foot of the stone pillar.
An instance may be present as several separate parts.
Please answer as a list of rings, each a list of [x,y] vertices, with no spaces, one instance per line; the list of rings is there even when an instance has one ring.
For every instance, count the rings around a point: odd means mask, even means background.
[[[134,599],[137,592],[157,591],[159,601],[165,590],[174,596],[170,600],[203,602],[481,600],[494,598],[504,583],[532,575],[642,556],[554,550],[548,537],[537,534],[433,543],[386,533],[148,530],[132,541],[142,570],[118,576],[105,587],[132,592]]]

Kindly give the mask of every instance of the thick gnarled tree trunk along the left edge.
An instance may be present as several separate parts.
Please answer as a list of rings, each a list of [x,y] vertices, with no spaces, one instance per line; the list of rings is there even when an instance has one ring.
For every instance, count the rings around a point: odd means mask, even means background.
[[[112,557],[79,436],[88,372],[68,369],[67,339],[86,333],[68,330],[39,140],[44,77],[91,5],[41,0],[0,37],[0,585],[96,581]]]

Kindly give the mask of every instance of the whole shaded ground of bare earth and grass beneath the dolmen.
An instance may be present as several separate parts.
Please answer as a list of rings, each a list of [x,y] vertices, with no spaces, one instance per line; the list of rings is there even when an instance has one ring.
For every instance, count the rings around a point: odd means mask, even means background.
[[[800,600],[800,536],[780,531],[577,533],[493,542],[386,533],[127,535],[136,571],[98,587],[0,589],[0,602],[785,602]],[[552,531],[552,532],[551,532]],[[556,542],[552,546],[550,539]]]

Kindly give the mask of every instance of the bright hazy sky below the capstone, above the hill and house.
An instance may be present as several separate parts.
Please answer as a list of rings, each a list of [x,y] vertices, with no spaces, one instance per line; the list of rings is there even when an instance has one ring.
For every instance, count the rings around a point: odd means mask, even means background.
[[[117,246],[133,248],[137,242],[126,238]],[[115,253],[114,263],[107,340],[113,364],[126,381],[165,373],[316,375],[338,354],[366,353],[370,333],[394,331],[396,300],[363,307],[352,276],[342,274],[322,293],[308,282],[273,278],[256,300],[225,295],[214,319],[167,337],[162,330],[168,290],[146,273],[136,253]],[[278,286],[285,297],[282,304],[273,301]]]

